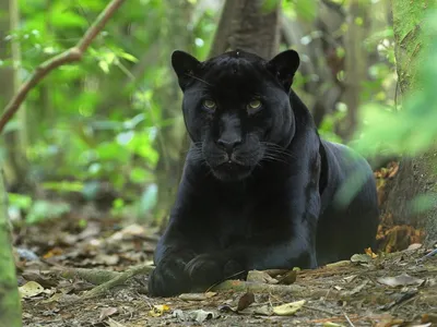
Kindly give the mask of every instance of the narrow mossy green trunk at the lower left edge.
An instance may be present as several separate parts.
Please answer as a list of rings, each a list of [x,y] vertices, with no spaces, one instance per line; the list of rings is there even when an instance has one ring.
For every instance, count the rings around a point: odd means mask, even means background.
[[[0,170],[0,327],[19,327],[22,326],[21,302],[9,227],[8,196]]]

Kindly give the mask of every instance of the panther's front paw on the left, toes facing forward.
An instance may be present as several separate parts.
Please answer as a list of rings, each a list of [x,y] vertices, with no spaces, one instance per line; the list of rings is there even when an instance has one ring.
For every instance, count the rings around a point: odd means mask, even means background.
[[[191,282],[185,271],[186,265],[182,257],[164,258],[149,277],[149,295],[173,296],[189,292]]]

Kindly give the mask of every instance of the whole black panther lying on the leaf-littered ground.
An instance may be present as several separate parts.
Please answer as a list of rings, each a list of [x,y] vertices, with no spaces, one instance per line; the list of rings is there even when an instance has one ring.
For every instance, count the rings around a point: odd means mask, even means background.
[[[250,269],[316,268],[375,245],[367,161],[320,138],[291,88],[299,56],[172,55],[191,138],[154,256],[151,296],[204,290]]]

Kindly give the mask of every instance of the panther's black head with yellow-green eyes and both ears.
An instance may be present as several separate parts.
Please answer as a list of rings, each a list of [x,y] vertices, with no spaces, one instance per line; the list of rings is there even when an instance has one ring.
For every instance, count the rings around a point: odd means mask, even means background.
[[[177,50],[172,64],[193,150],[218,180],[243,180],[262,161],[280,159],[295,133],[288,94],[296,51],[267,61],[236,50],[201,62]]]

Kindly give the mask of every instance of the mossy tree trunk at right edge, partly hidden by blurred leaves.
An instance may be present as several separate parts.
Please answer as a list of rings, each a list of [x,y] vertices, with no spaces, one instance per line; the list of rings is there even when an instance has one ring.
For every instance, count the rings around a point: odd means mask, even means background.
[[[424,15],[437,5],[426,1],[392,1],[395,58],[399,85],[402,96],[418,89],[417,68],[423,60],[423,48],[430,39],[421,28]],[[409,17],[408,20],[405,17]],[[430,104],[433,106],[433,104]],[[435,106],[435,104],[434,104]],[[392,182],[385,206],[395,225],[412,225],[425,230],[426,241],[437,241],[437,143],[432,149],[415,158],[404,157]],[[415,199],[429,195],[434,205],[417,213]]]

